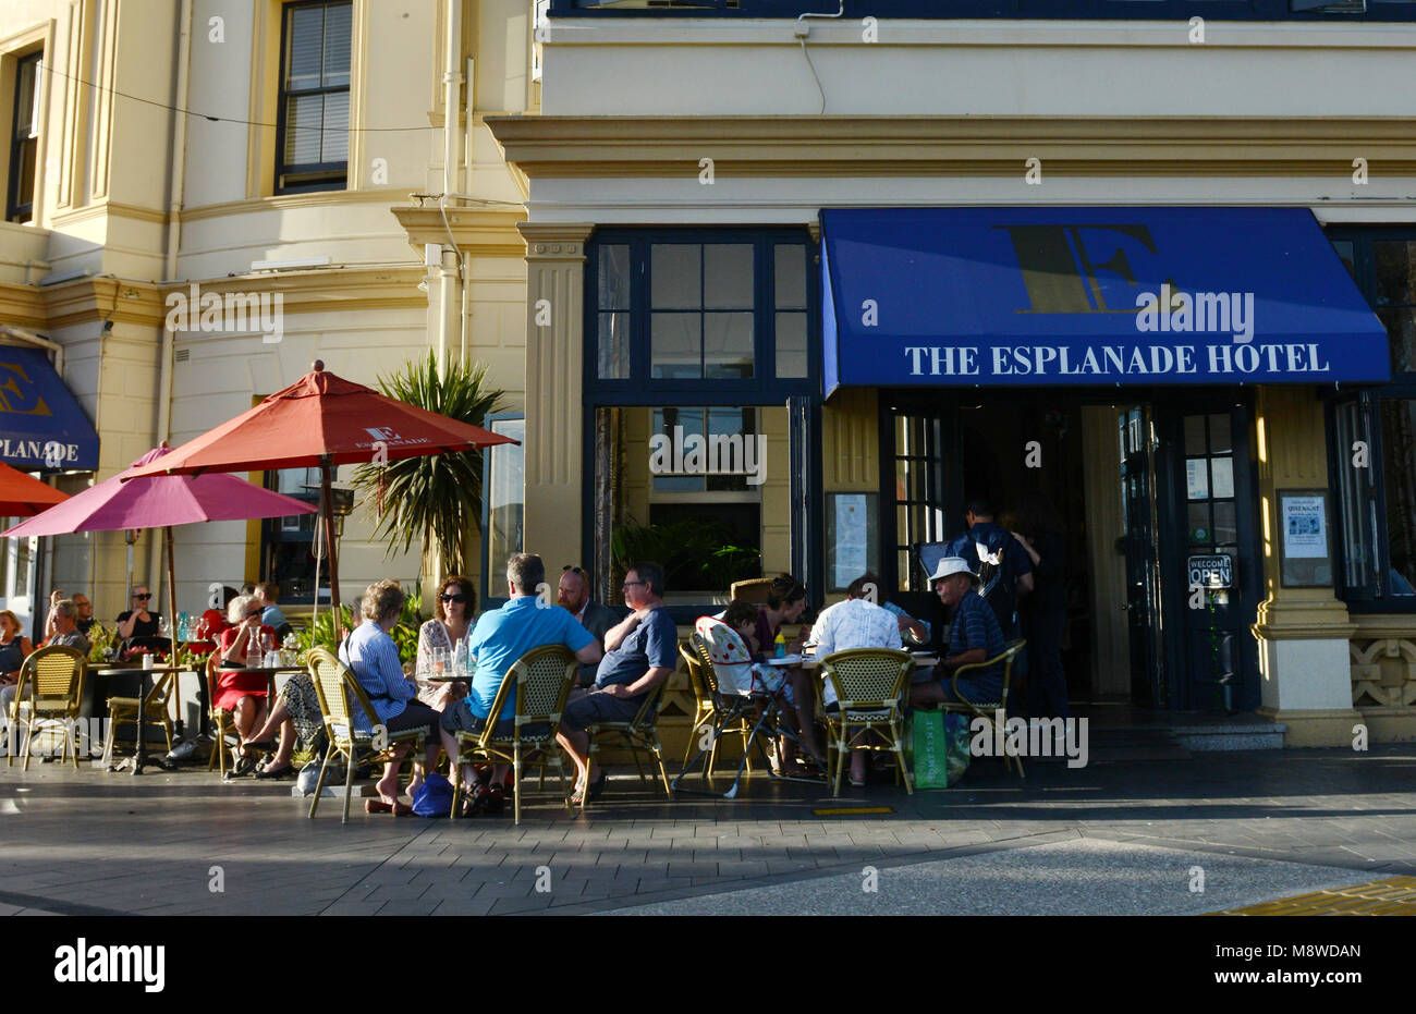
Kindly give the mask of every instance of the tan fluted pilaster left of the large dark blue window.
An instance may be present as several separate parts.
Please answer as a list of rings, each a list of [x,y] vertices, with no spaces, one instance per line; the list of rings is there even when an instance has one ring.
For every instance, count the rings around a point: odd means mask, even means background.
[[[581,547],[585,241],[592,224],[517,227],[527,241],[525,551],[547,575]],[[493,574],[504,561],[490,561]],[[547,578],[549,581],[549,576]]]

